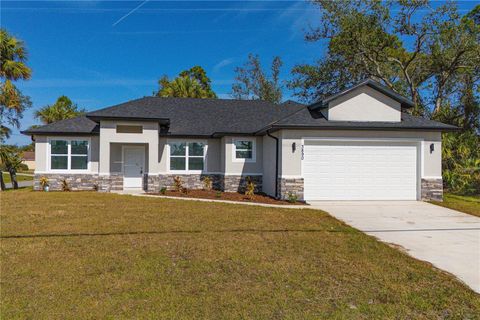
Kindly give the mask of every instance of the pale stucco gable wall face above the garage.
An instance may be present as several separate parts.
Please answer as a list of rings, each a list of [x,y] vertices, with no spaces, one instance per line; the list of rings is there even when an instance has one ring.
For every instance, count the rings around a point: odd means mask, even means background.
[[[401,105],[381,92],[363,86],[328,104],[330,121],[401,121]]]

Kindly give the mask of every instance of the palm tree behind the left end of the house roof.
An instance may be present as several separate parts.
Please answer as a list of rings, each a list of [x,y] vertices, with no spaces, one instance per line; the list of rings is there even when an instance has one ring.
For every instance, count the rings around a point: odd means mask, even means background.
[[[79,109],[76,104],[67,96],[61,96],[57,101],[45,106],[35,112],[35,117],[40,119],[44,124],[70,119],[85,113],[85,110]]]

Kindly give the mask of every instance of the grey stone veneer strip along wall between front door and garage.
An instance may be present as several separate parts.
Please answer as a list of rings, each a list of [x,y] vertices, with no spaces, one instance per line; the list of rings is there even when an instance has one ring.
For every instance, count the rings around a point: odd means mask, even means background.
[[[203,178],[210,177],[212,179],[212,187],[215,190],[222,190],[228,192],[243,192],[247,185],[247,176],[241,175],[222,175],[222,174],[160,174],[148,175],[147,187],[148,192],[159,192],[161,188],[173,189],[174,177],[180,177],[183,186],[188,189],[202,189]],[[262,176],[249,176],[255,183],[255,192],[262,191]]]

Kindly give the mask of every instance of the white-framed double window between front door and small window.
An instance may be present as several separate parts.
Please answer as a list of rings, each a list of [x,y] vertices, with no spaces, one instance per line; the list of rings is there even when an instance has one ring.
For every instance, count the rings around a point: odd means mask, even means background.
[[[205,166],[205,144],[202,142],[170,142],[170,170],[202,171]]]

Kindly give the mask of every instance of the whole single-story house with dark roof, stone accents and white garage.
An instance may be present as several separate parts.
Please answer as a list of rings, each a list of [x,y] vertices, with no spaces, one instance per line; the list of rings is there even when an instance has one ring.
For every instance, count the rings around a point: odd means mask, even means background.
[[[144,97],[24,131],[35,189],[158,192],[180,176],[237,191],[247,177],[279,198],[442,198],[442,136],[451,125],[405,111],[412,101],[373,81],[311,105]]]

